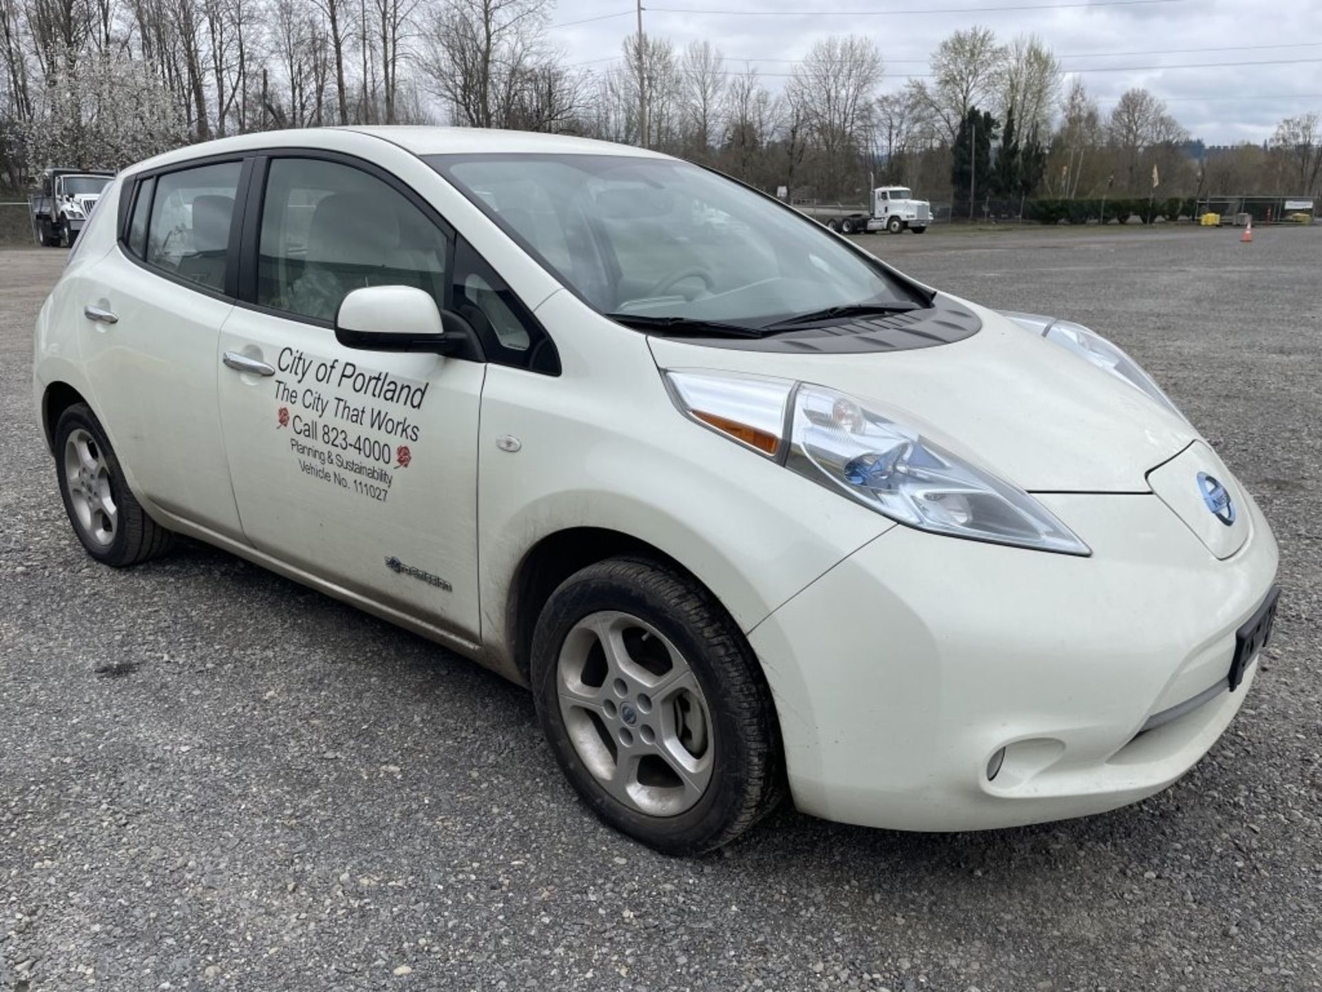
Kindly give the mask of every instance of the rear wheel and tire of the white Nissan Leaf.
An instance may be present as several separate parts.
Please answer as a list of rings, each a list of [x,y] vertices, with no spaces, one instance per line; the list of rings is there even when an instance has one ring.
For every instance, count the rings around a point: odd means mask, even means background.
[[[110,439],[86,403],[70,406],[56,425],[56,475],[69,522],[97,561],[118,569],[169,550],[175,536],[130,492]]]

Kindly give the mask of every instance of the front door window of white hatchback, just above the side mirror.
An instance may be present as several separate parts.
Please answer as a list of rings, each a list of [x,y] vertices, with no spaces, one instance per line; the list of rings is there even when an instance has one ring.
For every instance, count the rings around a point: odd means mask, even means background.
[[[266,184],[256,302],[334,320],[365,286],[414,286],[446,306],[449,241],[405,196],[350,165],[276,159]]]

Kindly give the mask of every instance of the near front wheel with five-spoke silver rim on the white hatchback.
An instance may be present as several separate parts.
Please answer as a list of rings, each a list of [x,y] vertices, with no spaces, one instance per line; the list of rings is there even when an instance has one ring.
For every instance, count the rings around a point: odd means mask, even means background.
[[[583,802],[668,854],[728,844],[780,799],[780,731],[758,659],[720,603],[644,558],[575,573],[542,610],[531,681]]]

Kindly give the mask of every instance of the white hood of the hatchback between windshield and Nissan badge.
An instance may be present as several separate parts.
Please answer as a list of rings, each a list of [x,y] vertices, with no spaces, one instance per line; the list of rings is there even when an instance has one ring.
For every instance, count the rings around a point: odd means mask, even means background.
[[[1177,414],[999,313],[958,300],[977,333],[931,348],[795,354],[652,337],[662,369],[792,378],[880,413],[1030,492],[1151,492],[1146,475],[1198,439]]]

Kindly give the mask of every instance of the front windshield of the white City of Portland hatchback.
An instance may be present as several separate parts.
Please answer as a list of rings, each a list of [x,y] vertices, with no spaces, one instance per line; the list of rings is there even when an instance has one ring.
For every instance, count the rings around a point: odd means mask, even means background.
[[[689,163],[526,153],[428,163],[603,313],[764,327],[925,302],[816,222]]]

